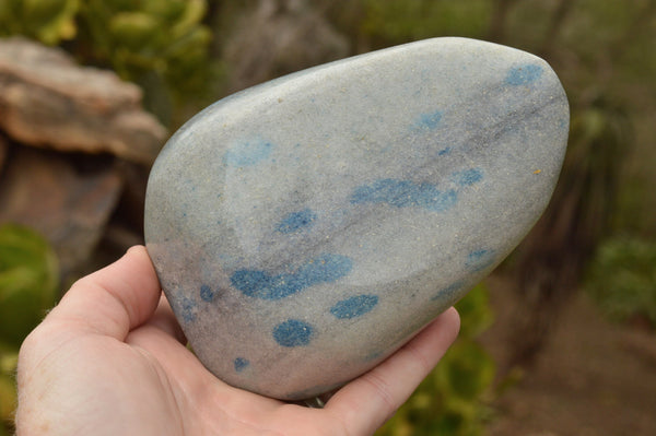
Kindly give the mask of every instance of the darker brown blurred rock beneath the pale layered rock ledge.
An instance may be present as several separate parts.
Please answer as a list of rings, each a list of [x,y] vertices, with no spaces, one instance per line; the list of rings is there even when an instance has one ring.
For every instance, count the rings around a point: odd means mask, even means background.
[[[91,257],[121,192],[114,165],[91,160],[73,165],[54,152],[15,148],[0,184],[0,223],[44,235],[65,280]]]

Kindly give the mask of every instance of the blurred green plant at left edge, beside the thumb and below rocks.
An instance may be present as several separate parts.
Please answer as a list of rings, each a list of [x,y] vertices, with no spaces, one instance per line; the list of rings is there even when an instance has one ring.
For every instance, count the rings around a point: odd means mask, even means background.
[[[9,434],[15,405],[19,346],[55,305],[59,270],[49,244],[34,231],[0,226],[0,435]]]

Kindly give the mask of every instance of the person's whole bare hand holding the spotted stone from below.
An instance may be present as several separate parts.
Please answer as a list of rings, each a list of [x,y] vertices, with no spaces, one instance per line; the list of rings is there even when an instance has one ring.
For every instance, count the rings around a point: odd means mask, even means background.
[[[30,435],[371,435],[455,340],[449,309],[324,409],[233,388],[185,346],[144,247],[79,280],[24,341],[16,429]]]

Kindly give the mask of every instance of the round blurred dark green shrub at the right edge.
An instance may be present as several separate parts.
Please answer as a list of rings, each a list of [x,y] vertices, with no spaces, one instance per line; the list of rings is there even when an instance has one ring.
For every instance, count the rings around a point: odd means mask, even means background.
[[[619,236],[594,258],[586,290],[616,320],[646,318],[656,328],[656,243]]]

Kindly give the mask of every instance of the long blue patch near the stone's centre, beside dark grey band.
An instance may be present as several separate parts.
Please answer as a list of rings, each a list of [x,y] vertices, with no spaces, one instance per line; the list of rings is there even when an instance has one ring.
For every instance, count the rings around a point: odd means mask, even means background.
[[[454,190],[441,191],[435,185],[411,180],[379,179],[371,185],[355,188],[351,203],[388,203],[396,208],[423,208],[444,212],[456,204]]]

